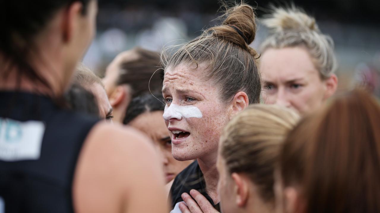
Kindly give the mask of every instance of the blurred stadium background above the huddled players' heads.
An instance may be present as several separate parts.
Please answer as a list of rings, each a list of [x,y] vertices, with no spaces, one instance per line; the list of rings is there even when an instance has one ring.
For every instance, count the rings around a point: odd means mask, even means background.
[[[260,18],[270,5],[294,3],[314,16],[323,33],[335,42],[339,61],[339,90],[366,81],[380,96],[380,0],[245,1],[256,8],[258,48],[267,30]],[[182,44],[201,30],[220,23],[218,0],[99,0],[97,35],[84,64],[103,76],[120,52],[136,46],[160,52],[163,46]]]

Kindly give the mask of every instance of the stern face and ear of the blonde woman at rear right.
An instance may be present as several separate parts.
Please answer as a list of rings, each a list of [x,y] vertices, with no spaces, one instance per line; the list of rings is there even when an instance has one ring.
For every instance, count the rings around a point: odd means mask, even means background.
[[[264,103],[310,113],[334,94],[336,75],[321,79],[310,54],[302,47],[268,49],[261,55]]]

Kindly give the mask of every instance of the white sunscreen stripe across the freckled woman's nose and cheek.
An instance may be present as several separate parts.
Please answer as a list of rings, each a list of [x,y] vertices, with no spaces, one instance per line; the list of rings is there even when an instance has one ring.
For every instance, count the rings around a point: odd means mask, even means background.
[[[203,117],[201,111],[198,109],[198,107],[194,106],[178,106],[174,103],[171,103],[170,106],[165,106],[165,111],[162,116],[166,121],[169,121],[172,118],[176,119],[182,119],[189,118],[189,117],[196,117],[201,118]]]

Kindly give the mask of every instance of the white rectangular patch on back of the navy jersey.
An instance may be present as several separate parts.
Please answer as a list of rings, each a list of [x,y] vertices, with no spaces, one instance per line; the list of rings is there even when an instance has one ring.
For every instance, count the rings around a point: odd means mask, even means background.
[[[0,117],[0,160],[37,160],[44,132],[42,121],[20,122]]]

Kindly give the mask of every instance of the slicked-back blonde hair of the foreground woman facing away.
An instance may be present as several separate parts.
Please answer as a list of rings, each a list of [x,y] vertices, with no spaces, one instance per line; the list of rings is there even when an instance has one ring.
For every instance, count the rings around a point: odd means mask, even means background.
[[[258,186],[261,198],[274,202],[274,167],[283,140],[299,120],[277,105],[250,105],[226,125],[220,154],[230,173],[244,173]]]

